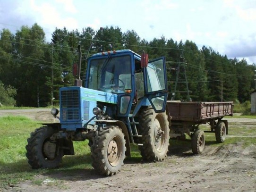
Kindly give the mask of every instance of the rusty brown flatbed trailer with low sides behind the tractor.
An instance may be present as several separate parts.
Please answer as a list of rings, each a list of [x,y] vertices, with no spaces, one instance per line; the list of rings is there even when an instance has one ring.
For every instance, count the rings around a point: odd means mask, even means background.
[[[167,101],[167,111],[171,117],[170,137],[185,139],[191,137],[192,152],[202,154],[205,147],[205,132],[214,133],[216,141],[225,141],[228,134],[228,120],[233,115],[233,102],[180,102]],[[209,124],[210,130],[203,131],[199,125]]]

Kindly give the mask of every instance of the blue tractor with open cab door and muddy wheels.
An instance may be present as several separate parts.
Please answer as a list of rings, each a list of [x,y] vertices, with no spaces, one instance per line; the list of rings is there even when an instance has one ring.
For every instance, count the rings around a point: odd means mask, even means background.
[[[94,54],[87,63],[84,87],[80,54],[76,86],[60,88],[60,116],[51,110],[60,123],[43,124],[27,139],[31,167],[58,167],[64,155],[75,154],[73,142],[85,140],[102,175],[119,172],[130,143],[143,159],[162,161],[170,138],[165,58],[148,61],[144,51],[117,50]]]

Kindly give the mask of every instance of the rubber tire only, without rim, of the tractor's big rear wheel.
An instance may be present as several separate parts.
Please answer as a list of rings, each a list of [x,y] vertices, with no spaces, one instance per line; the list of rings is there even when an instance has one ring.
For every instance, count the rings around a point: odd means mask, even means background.
[[[159,152],[154,147],[154,130],[152,127],[155,117],[162,118],[161,124],[165,125],[165,142],[162,146],[162,151]],[[148,161],[162,161],[167,156],[168,147],[169,147],[169,122],[168,116],[165,113],[155,113],[152,107],[148,107],[143,110],[140,114],[140,130],[138,132],[142,134],[141,143],[142,146],[138,146],[140,154],[144,160]]]

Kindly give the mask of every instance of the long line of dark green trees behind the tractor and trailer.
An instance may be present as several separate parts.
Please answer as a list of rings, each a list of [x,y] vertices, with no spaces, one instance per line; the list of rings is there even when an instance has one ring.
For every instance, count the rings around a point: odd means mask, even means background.
[[[59,88],[74,83],[72,65],[78,61],[78,43],[83,53],[82,75],[87,53],[130,49],[145,50],[150,59],[165,56],[170,69],[169,100],[176,87],[175,100],[188,100],[189,93],[193,101],[245,102],[255,87],[255,64],[229,59],[211,47],[199,49],[189,40],[176,42],[162,36],[147,41],[134,30],[122,32],[113,26],[82,31],[56,28],[51,36],[51,42],[46,42],[43,28],[36,23],[22,26],[15,34],[9,29],[0,31],[0,105],[57,105]]]

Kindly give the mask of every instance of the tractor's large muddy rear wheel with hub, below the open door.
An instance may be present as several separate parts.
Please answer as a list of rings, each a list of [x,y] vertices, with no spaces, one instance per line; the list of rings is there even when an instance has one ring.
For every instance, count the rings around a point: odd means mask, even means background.
[[[166,113],[155,113],[153,108],[147,108],[141,113],[140,118],[142,134],[139,146],[143,159],[150,161],[162,161],[167,156],[169,147],[169,122]]]

